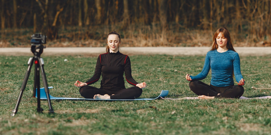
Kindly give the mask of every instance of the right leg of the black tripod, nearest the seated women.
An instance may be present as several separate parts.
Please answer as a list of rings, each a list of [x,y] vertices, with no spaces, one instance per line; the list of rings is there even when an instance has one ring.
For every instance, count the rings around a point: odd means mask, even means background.
[[[48,105],[49,105],[49,113],[54,113],[54,110],[52,108],[51,101],[50,101],[48,83],[47,83],[46,75],[45,75],[44,68],[43,68],[44,61],[43,61],[43,58],[39,58],[39,57],[38,57],[38,60],[39,60],[39,64],[40,64],[40,72],[41,72],[42,82],[43,82],[43,86],[44,86],[44,91],[46,93],[46,97],[47,97],[47,101],[48,101]]]

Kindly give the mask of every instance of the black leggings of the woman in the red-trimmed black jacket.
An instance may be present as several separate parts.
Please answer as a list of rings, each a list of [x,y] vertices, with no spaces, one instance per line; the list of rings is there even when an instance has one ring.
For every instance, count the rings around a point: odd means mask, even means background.
[[[116,91],[107,90],[107,89],[99,89],[92,86],[83,86],[79,89],[79,92],[82,97],[85,97],[86,99],[93,99],[94,95],[100,94],[110,95],[110,99],[136,99],[140,97],[142,94],[142,89],[134,86],[127,89],[120,89]],[[115,94],[115,95],[112,95]]]

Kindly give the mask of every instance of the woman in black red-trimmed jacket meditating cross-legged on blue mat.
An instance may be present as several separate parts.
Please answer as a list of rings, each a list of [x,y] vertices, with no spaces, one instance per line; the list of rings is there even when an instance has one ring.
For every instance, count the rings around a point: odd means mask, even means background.
[[[95,73],[85,83],[76,81],[75,86],[81,87],[81,96],[87,99],[136,99],[142,94],[142,88],[146,83],[137,83],[132,78],[131,62],[129,56],[119,52],[120,35],[117,32],[110,32],[107,36],[106,52],[100,54],[97,59]],[[125,88],[126,81],[134,87]],[[101,87],[89,86],[100,79],[102,75]]]

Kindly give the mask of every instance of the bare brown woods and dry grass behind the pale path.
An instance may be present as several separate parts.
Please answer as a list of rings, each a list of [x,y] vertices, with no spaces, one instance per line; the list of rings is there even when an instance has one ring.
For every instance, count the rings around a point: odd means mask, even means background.
[[[117,31],[125,46],[210,46],[226,26],[235,46],[271,46],[271,0],[1,0],[0,47],[104,46]]]

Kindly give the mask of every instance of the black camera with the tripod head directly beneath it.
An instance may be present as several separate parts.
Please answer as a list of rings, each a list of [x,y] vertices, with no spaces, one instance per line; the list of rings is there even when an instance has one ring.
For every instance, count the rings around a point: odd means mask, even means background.
[[[46,44],[46,38],[47,36],[39,33],[31,36],[31,52],[34,54],[34,56],[40,56],[40,54],[42,54],[43,48],[46,48],[46,46],[43,46],[43,44]],[[39,51],[37,51],[37,49],[39,49]]]

